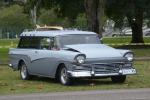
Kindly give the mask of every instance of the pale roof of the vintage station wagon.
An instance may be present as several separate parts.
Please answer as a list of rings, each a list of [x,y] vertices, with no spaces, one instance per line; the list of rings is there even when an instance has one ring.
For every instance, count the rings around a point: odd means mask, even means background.
[[[94,32],[89,31],[76,31],[76,30],[55,30],[55,31],[30,31],[21,33],[22,36],[58,36],[58,35],[71,35],[71,34],[96,34]]]

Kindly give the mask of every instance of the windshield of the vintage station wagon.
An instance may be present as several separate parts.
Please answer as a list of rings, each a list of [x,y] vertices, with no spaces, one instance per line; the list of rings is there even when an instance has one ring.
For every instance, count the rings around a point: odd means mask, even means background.
[[[59,37],[60,47],[65,45],[74,45],[74,44],[99,44],[100,39],[96,34],[78,34],[78,35],[64,35]]]

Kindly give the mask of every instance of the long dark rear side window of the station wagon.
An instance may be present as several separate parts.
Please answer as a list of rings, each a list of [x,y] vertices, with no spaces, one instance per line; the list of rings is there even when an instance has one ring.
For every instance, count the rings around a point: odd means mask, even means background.
[[[21,37],[18,48],[34,48],[40,47],[40,38],[37,37]]]

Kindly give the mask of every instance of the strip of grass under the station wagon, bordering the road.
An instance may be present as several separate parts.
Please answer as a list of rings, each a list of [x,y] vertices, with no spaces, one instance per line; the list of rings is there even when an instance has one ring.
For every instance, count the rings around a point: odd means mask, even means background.
[[[73,86],[63,86],[49,78],[34,77],[23,81],[18,71],[0,66],[0,95],[18,93],[40,93],[60,91],[107,90],[128,88],[150,88],[150,62],[135,62],[138,74],[128,76],[123,84],[114,84],[110,79],[76,80]],[[93,85],[92,85],[93,84]]]

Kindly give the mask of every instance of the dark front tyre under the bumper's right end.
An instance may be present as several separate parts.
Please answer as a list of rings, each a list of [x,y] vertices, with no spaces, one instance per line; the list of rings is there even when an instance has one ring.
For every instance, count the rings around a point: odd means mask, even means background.
[[[124,83],[126,81],[126,75],[112,76],[111,80],[114,83]]]

